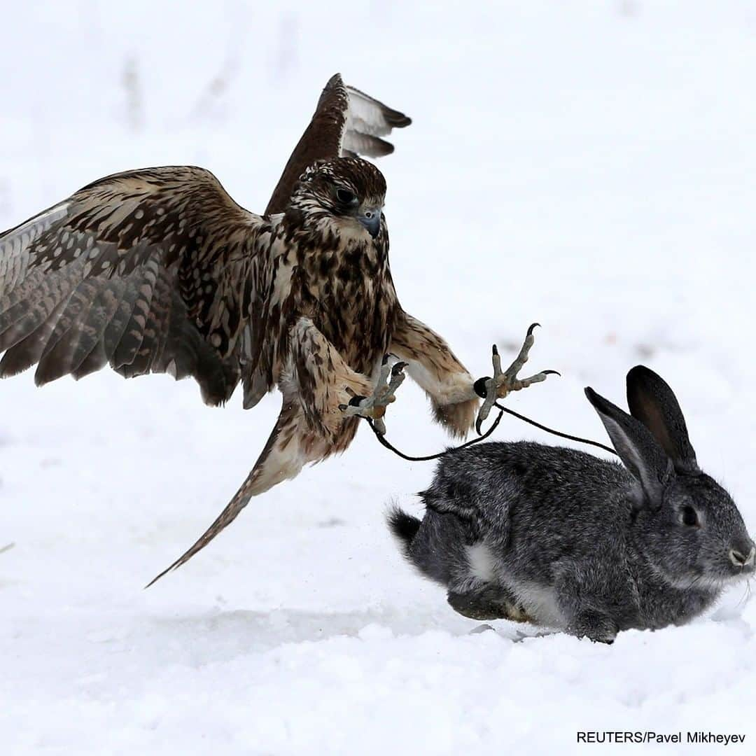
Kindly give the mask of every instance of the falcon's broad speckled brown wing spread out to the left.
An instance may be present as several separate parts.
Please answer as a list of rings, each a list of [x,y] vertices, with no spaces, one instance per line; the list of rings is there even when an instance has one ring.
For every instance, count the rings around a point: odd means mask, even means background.
[[[204,169],[89,184],[0,234],[0,376],[37,364],[42,385],[110,364],[191,375],[208,404],[226,401],[268,289],[270,237]]]

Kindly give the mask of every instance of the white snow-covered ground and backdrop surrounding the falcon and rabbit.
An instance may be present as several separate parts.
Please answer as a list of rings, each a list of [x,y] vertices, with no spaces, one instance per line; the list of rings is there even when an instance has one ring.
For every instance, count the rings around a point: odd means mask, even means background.
[[[621,401],[627,368],[654,367],[753,533],[754,5],[271,5],[4,2],[0,228],[166,163],[262,210],[340,70],[414,117],[380,163],[405,308],[478,374],[491,342],[540,321],[534,367],[564,377],[511,406],[600,440],[581,388]],[[752,752],[745,587],[614,646],[470,634],[383,523],[392,497],[417,510],[432,469],[367,429],[142,590],[225,505],[277,408],[209,409],[166,376],[0,386],[2,753],[611,749],[578,730],[740,733]],[[408,384],[389,434],[445,443]],[[498,437],[550,442],[514,420]]]

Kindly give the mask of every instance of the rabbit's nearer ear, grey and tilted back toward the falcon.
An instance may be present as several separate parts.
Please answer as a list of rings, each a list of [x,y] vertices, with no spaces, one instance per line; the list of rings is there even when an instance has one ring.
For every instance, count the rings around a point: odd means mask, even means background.
[[[593,389],[585,389],[585,395],[598,412],[624,466],[640,484],[643,498],[658,506],[662,502],[662,488],[672,472],[669,457],[643,423]]]

